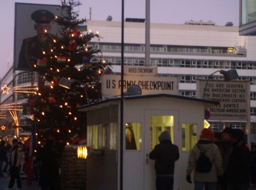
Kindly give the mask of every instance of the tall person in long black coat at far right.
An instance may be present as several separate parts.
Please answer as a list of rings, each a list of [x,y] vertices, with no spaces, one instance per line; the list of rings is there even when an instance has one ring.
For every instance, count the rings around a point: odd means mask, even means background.
[[[227,166],[227,189],[248,189],[250,185],[250,151],[244,143],[245,133],[241,129],[233,129],[231,136],[234,150]]]

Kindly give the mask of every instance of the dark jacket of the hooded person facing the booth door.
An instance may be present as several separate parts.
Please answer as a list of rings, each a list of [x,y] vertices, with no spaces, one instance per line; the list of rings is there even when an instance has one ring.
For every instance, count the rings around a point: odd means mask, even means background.
[[[174,175],[174,163],[179,159],[178,146],[170,140],[164,140],[157,144],[149,154],[150,159],[155,160],[155,172],[157,176]]]

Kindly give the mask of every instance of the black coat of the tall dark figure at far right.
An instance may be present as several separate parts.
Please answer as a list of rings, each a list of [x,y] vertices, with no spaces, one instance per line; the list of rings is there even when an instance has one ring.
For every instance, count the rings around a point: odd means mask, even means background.
[[[234,144],[234,150],[229,158],[227,167],[227,180],[236,183],[249,183],[250,181],[250,151],[243,141]]]

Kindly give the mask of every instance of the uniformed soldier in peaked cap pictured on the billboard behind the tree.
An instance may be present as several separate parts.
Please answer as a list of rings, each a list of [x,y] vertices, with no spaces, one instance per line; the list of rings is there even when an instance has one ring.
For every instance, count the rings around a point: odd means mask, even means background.
[[[19,52],[18,69],[31,69],[40,61],[47,61],[43,52],[47,54],[52,47],[46,32],[51,31],[50,23],[54,19],[54,14],[47,10],[37,10],[31,14],[31,19],[35,21],[34,30],[37,31],[37,35],[23,40]]]

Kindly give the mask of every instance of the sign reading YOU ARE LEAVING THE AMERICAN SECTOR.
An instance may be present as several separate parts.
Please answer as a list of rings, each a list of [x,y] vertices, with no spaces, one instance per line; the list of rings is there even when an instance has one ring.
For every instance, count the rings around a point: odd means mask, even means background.
[[[206,86],[207,84],[207,86]],[[250,82],[249,81],[197,81],[197,97],[220,102],[205,108],[209,120],[249,121]]]

